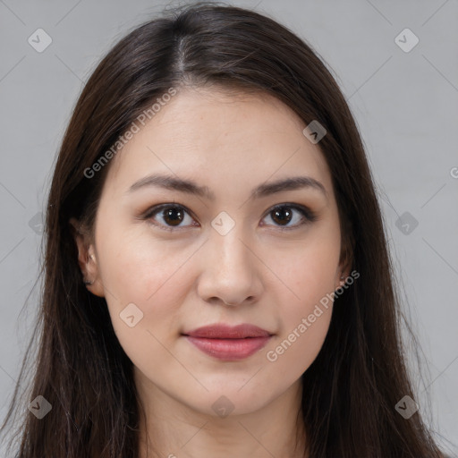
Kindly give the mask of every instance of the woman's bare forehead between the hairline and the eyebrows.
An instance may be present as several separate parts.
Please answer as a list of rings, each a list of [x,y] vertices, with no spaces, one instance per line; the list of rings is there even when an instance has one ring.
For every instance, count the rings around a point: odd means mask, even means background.
[[[270,176],[303,172],[328,188],[326,160],[302,134],[305,125],[268,94],[181,89],[114,156],[106,187],[126,191],[142,176],[161,171],[196,181],[201,176],[209,187],[212,182],[250,189]]]

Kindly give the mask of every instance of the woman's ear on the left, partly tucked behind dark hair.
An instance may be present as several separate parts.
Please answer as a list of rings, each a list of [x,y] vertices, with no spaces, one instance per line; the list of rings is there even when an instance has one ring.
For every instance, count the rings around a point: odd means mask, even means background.
[[[86,284],[86,287],[91,293],[99,297],[105,297],[104,287],[99,275],[95,247],[90,240],[89,232],[74,217],[70,219],[69,224],[78,248],[78,264],[82,274],[81,282],[89,282],[90,284]]]

